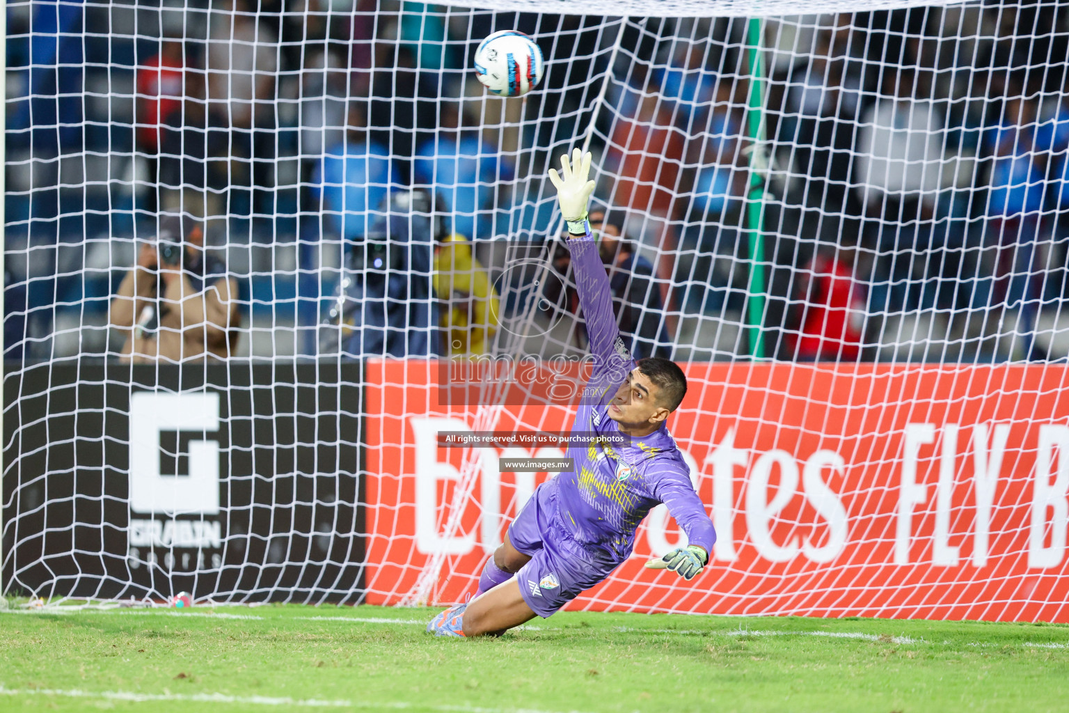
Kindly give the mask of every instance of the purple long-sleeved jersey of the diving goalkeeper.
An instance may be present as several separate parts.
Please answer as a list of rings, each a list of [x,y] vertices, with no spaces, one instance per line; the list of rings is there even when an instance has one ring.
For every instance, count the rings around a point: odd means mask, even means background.
[[[593,373],[573,431],[620,434],[619,424],[608,416],[608,404],[635,362],[620,338],[597,243],[588,232],[586,237],[569,239],[568,247],[593,356]],[[626,446],[572,445],[568,456],[573,459],[573,471],[561,472],[547,485],[556,489],[561,523],[577,542],[603,548],[622,562],[631,555],[638,524],[663,502],[690,544],[712,554],[713,523],[666,423]]]

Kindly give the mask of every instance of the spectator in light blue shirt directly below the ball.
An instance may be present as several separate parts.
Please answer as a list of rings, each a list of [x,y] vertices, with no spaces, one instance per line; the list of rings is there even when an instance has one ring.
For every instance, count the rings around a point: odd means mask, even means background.
[[[493,216],[480,215],[495,207],[495,190],[513,177],[512,165],[476,131],[461,129],[455,104],[443,104],[441,122],[434,138],[423,141],[413,161],[413,183],[433,187],[453,214],[453,232],[489,237]]]

